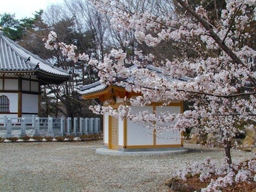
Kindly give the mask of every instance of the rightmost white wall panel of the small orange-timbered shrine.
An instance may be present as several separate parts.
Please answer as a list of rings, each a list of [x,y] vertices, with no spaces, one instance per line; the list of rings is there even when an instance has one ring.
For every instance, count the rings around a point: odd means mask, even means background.
[[[181,113],[181,106],[156,106],[156,116],[159,116],[161,112]],[[171,125],[173,123],[168,123],[166,125]],[[181,144],[180,132],[172,132],[168,130],[164,133],[156,133],[156,144],[166,145],[166,144]]]

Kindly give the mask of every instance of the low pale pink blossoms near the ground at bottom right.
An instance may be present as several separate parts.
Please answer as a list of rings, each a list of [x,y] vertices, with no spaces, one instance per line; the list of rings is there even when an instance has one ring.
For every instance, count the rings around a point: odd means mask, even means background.
[[[222,189],[240,181],[255,181],[255,158],[232,165],[229,165],[225,160],[223,162],[220,166],[217,166],[218,162],[208,157],[203,162],[196,162],[173,173],[173,176],[186,180],[187,174],[200,175],[199,178],[202,182],[208,178],[215,178],[211,179],[208,186],[201,190],[202,192],[221,192]],[[216,178],[216,176],[218,177]]]

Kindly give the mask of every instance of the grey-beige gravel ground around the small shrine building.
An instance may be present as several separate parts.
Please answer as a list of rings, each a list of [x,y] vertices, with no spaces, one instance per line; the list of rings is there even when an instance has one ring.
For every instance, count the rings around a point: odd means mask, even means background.
[[[103,156],[102,140],[0,143],[0,192],[166,192],[170,173],[221,149],[185,144],[189,153],[165,157]],[[234,150],[234,161],[253,157]]]

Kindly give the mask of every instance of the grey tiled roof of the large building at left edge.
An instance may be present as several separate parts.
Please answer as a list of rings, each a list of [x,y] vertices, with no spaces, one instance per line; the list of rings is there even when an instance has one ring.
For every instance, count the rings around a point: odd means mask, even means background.
[[[68,71],[56,68],[32,52],[19,46],[0,31],[0,72],[25,73],[38,76],[43,83],[62,83],[71,75]]]

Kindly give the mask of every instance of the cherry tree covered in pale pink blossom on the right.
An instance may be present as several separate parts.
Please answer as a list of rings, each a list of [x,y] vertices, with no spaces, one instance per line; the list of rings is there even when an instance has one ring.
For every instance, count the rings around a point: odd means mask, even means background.
[[[242,132],[237,128],[239,123],[246,122],[248,128],[256,130],[256,49],[252,43],[256,40],[256,1],[226,0],[225,8],[216,8],[216,19],[209,15],[213,12],[207,10],[207,6],[216,1],[207,1],[204,6],[190,6],[184,0],[164,1],[169,7],[165,14],[136,12],[128,9],[122,0],[93,0],[93,3],[111,18],[113,28],[134,31],[138,43],[152,49],[165,42],[177,47],[179,51],[172,57],[167,58],[157,51],[144,54],[136,50],[136,56],[131,59],[124,50],[112,50],[103,61],[98,61],[83,53],[76,54],[73,45],[56,42],[54,32],[49,34],[46,47],[61,49],[72,60],[87,60],[99,70],[104,84],[140,93],[137,98],[129,99],[131,105],[159,101],[165,101],[163,105],[166,105],[173,100],[193,100],[193,108],[183,114],[161,113],[159,116],[147,111],[134,115],[129,105],[121,105],[118,109],[110,106],[91,108],[96,113],[108,112],[159,132],[184,131],[198,126],[200,132],[217,134],[219,145],[225,150],[225,170],[231,171],[209,189],[216,190],[220,185],[223,187],[223,183],[227,185],[244,178],[255,180],[248,170],[237,169],[235,174],[230,150],[236,147],[235,136]],[[173,14],[174,9],[181,11]],[[150,70],[148,65],[158,70]],[[157,75],[159,71],[164,76]],[[188,81],[179,80],[183,77],[189,77]],[[170,122],[173,124],[167,126]]]

